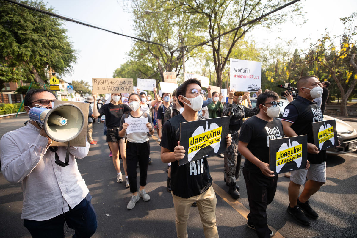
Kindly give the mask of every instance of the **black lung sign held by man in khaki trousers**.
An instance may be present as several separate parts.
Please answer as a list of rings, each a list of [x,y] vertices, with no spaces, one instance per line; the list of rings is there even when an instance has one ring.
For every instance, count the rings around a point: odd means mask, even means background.
[[[180,123],[180,145],[185,157],[179,165],[218,155],[226,151],[230,116]]]

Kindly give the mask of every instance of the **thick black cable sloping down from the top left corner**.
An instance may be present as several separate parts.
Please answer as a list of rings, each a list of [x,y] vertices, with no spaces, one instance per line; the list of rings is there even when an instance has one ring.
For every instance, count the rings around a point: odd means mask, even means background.
[[[30,10],[33,10],[33,11],[38,11],[38,12],[41,12],[41,13],[43,13],[43,14],[47,14],[47,15],[50,15],[50,16],[58,17],[58,18],[60,18],[60,19],[66,20],[66,21],[75,22],[75,23],[77,23],[77,24],[89,26],[89,27],[92,27],[92,28],[95,28],[95,29],[99,29],[99,30],[103,30],[103,31],[107,31],[107,32],[110,32],[110,33],[113,33],[113,34],[116,34],[116,35],[125,36],[125,37],[131,38],[131,39],[135,39],[135,40],[138,40],[138,41],[143,41],[143,42],[146,42],[146,43],[155,44],[155,45],[160,45],[160,46],[162,46],[162,47],[165,47],[165,46],[164,46],[163,44],[161,44],[161,43],[157,43],[157,42],[154,42],[154,41],[149,41],[149,40],[140,39],[140,38],[137,38],[137,37],[134,37],[134,36],[124,35],[124,34],[121,34],[121,33],[119,33],[119,32],[115,32],[115,31],[111,31],[111,30],[107,30],[107,29],[98,27],[98,26],[90,25],[90,24],[87,24],[87,23],[84,23],[84,22],[81,22],[81,21],[77,21],[77,20],[74,20],[74,19],[71,19],[71,18],[68,18],[68,17],[65,17],[65,16],[61,16],[61,15],[58,15],[58,14],[55,14],[55,13],[52,13],[52,12],[49,12],[49,11],[45,11],[45,10],[42,10],[42,9],[38,9],[38,8],[36,8],[36,7],[31,7],[31,6],[26,5],[26,4],[23,4],[23,3],[21,3],[21,2],[16,2],[16,1],[13,1],[13,0],[2,0],[2,1],[10,2],[10,3],[12,3],[12,4],[16,4],[16,5],[25,7],[25,8],[27,8],[27,9],[30,9]]]

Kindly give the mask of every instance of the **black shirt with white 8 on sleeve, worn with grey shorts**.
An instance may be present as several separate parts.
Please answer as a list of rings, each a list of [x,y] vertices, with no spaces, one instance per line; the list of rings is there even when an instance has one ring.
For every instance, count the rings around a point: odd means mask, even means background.
[[[297,135],[307,135],[307,142],[313,143],[311,123],[323,121],[323,114],[315,102],[298,96],[285,107],[281,120],[291,122],[291,128]],[[326,160],[326,150],[318,154],[307,153],[307,160],[311,164],[321,164]]]

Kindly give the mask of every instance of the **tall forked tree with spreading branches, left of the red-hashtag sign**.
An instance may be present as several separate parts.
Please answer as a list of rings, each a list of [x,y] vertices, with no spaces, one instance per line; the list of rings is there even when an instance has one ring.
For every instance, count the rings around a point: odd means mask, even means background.
[[[198,16],[201,22],[198,31],[210,39],[206,45],[211,47],[213,64],[217,76],[217,86],[222,87],[222,74],[229,63],[231,53],[238,41],[257,25],[273,27],[286,21],[288,15],[300,14],[298,4],[272,13],[260,21],[246,23],[261,17],[262,15],[277,9],[289,2],[288,0],[183,0],[179,1],[182,11],[193,16]],[[244,26],[245,25],[245,26]],[[227,35],[223,33],[236,29]]]

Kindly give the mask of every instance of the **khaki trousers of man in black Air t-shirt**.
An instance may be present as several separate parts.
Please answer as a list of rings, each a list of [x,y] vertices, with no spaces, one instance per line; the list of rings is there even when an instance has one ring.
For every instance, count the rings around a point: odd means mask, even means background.
[[[212,186],[198,196],[182,198],[172,194],[172,198],[175,206],[175,224],[178,238],[187,238],[187,220],[194,202],[197,202],[205,237],[219,237],[216,225],[217,198]]]

